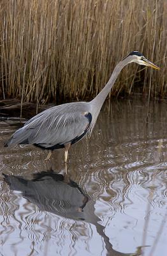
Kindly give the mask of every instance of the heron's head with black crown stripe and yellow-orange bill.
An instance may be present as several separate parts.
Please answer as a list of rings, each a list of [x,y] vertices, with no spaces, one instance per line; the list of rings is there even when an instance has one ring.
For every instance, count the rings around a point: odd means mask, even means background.
[[[126,58],[124,58],[123,60],[126,60],[126,59],[128,60],[128,63],[135,62],[135,63],[138,63],[139,65],[144,65],[144,66],[152,67],[152,68],[155,68],[157,70],[160,69],[154,63],[152,63],[151,61],[147,60],[143,56],[143,54],[141,52],[138,52],[138,51],[134,51],[134,52],[129,53],[129,55],[127,55]]]

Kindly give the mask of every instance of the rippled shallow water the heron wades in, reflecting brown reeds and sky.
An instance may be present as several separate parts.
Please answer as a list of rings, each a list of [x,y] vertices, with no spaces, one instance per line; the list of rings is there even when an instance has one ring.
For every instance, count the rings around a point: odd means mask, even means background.
[[[67,175],[62,150],[46,162],[39,148],[4,148],[20,124],[1,120],[0,255],[165,256],[166,107],[113,101]]]

